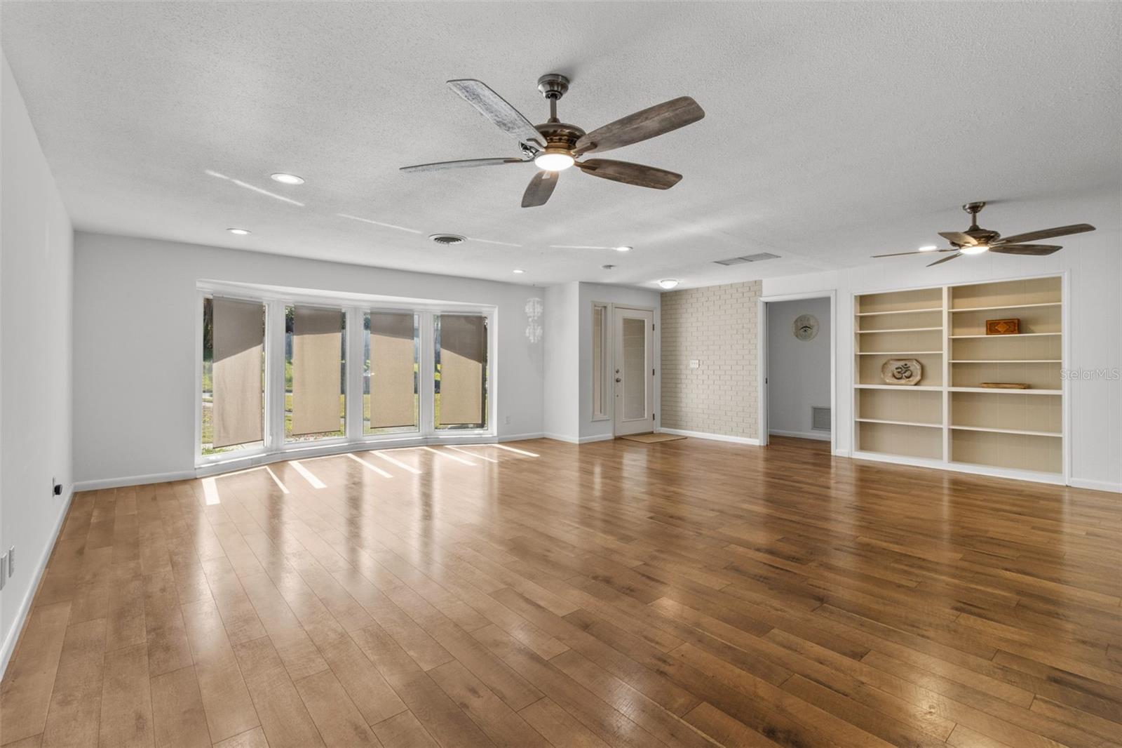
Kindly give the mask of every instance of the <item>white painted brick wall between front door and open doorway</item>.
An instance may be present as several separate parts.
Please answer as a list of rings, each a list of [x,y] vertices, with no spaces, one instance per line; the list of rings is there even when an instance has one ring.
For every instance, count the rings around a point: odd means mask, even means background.
[[[662,294],[663,428],[758,438],[760,281]],[[690,368],[691,358],[700,361]]]

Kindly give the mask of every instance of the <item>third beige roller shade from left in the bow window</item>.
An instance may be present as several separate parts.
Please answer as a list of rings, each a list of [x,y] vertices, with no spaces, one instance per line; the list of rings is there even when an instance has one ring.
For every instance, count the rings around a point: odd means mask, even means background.
[[[370,313],[370,428],[416,426],[412,313]]]

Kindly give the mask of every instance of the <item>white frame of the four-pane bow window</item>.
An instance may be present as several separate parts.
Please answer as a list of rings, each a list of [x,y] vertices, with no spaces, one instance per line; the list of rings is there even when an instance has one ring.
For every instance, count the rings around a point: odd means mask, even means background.
[[[221,297],[265,305],[265,439],[264,446],[215,455],[202,454],[203,299]],[[284,309],[286,305],[340,308],[347,319],[346,436],[293,441],[284,439]],[[398,434],[364,434],[362,345],[364,316],[371,311],[417,314],[419,428]],[[475,314],[487,320],[487,426],[481,429],[441,429],[433,422],[435,394],[434,335],[436,314]],[[319,456],[378,446],[478,443],[493,440],[498,423],[497,309],[482,304],[460,304],[352,293],[301,292],[277,286],[257,286],[220,281],[199,281],[195,303],[195,468],[202,474],[289,459],[296,455]],[[426,374],[427,373],[427,374]],[[352,393],[355,395],[352,396]]]

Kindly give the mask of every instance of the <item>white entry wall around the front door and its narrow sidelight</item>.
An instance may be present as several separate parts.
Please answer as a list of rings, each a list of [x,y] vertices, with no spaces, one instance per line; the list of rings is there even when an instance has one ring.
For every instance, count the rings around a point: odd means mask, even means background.
[[[652,336],[652,345],[654,346],[654,371],[656,372],[654,377],[654,403],[655,403],[655,416],[657,417],[660,399],[660,384],[662,377],[657,372],[662,371],[662,358],[659,352],[659,310],[660,310],[660,292],[659,291],[645,291],[642,289],[629,289],[619,285],[604,285],[600,283],[581,283],[580,284],[580,308],[579,308],[579,328],[580,328],[580,339],[579,339],[579,359],[580,359],[580,392],[579,401],[577,404],[577,412],[580,418],[580,440],[581,441],[595,441],[597,439],[607,439],[613,435],[613,420],[608,418],[606,420],[592,420],[592,377],[595,372],[592,372],[592,304],[594,303],[607,303],[611,304],[611,309],[615,307],[635,307],[638,309],[653,309],[654,310],[654,325],[655,334]],[[608,314],[608,352],[607,355],[614,355],[610,350],[615,346],[615,321],[614,314]],[[609,380],[610,381],[610,380]],[[613,414],[611,408],[615,398],[608,396],[608,416]],[[655,420],[655,426],[657,426],[657,418]]]

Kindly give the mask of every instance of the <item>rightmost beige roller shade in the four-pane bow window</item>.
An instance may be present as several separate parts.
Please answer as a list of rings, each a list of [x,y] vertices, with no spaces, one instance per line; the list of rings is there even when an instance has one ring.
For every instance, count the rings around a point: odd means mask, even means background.
[[[482,425],[487,326],[482,317],[440,318],[440,422]]]

